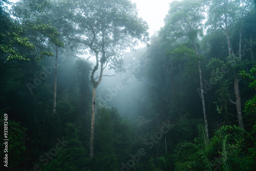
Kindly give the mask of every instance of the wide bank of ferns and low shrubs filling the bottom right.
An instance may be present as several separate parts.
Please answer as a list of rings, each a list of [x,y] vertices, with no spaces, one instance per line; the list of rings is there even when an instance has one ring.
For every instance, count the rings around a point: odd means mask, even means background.
[[[202,141],[205,139],[202,134],[199,134],[198,138],[195,139],[196,143],[185,141],[178,145],[177,170],[216,170],[217,168],[221,170],[251,170],[254,168],[252,160],[254,151],[247,148],[249,145],[247,142],[251,140],[251,137],[239,126],[221,127],[206,145]]]

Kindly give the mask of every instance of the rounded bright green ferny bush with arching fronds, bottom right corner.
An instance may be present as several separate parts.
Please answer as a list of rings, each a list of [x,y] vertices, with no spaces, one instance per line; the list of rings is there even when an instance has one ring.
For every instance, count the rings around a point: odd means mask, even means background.
[[[212,137],[211,144],[207,149],[208,154],[210,156],[219,154],[222,162],[219,164],[224,170],[231,170],[231,168],[232,170],[250,170],[254,167],[253,161],[250,160],[253,153],[248,151],[249,144],[247,142],[251,140],[252,137],[239,126],[226,125],[221,127]]]

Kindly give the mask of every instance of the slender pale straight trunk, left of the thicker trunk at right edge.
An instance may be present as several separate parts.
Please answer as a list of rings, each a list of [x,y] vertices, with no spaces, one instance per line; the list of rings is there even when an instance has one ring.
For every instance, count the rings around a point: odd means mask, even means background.
[[[195,46],[197,57],[199,57],[199,52],[198,52],[197,44],[196,44],[194,39],[193,39],[193,44]],[[204,125],[205,125],[206,138],[207,138],[207,142],[208,142],[209,141],[209,132],[208,132],[208,122],[207,122],[206,110],[205,110],[203,78],[202,78],[202,71],[201,71],[200,60],[198,61],[198,70],[199,70],[201,97],[202,97],[203,114],[204,114]]]

